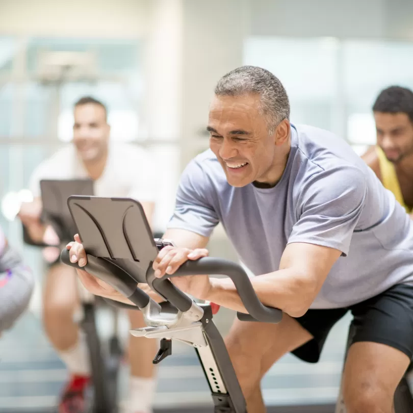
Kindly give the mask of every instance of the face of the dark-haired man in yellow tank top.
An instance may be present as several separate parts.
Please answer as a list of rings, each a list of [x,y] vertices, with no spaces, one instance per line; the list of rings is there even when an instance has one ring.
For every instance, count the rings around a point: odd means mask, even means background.
[[[377,144],[390,162],[413,154],[413,124],[407,114],[374,112],[374,119]]]

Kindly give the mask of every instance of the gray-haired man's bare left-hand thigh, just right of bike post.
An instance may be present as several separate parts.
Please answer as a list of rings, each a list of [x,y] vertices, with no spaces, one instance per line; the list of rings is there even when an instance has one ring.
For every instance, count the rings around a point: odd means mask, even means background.
[[[278,324],[236,319],[225,344],[240,382],[247,379],[253,385],[276,360],[312,338],[295,319],[283,314]]]

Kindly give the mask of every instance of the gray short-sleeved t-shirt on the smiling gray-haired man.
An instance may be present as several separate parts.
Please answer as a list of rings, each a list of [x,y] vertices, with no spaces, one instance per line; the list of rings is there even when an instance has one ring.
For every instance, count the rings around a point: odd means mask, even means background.
[[[412,221],[343,139],[316,127],[292,126],[286,169],[270,189],[230,186],[211,150],[193,159],[168,228],[208,237],[218,222],[255,275],[278,270],[289,243],[342,251],[311,308],[346,307],[413,284]]]

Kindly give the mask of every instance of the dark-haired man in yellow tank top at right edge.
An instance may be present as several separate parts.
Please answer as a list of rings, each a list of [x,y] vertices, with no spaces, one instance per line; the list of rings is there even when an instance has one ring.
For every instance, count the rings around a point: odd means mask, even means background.
[[[373,105],[377,145],[362,157],[413,219],[413,92],[391,86]]]

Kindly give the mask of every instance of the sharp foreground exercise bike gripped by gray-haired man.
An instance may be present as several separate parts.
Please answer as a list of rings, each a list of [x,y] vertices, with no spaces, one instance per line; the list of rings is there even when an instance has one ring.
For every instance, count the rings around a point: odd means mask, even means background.
[[[155,278],[152,262],[158,251],[171,242],[154,240],[142,206],[133,199],[71,196],[69,210],[87,252],[84,269],[109,283],[139,308],[147,327],[132,330],[136,337],[159,338],[160,350],[153,359],[160,363],[172,353],[172,340],[194,347],[207,378],[215,413],[246,413],[246,404],[224,341],[213,322],[210,304],[198,304],[166,277]],[[64,249],[61,260],[70,263]],[[79,268],[79,267],[78,267]],[[204,257],[182,265],[173,276],[222,274],[230,277],[249,314],[245,321],[278,323],[279,309],[264,306],[256,296],[244,269],[233,262]],[[165,299],[152,300],[137,283],[147,283]]]

